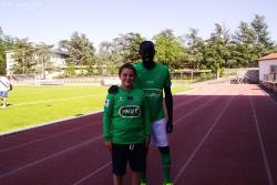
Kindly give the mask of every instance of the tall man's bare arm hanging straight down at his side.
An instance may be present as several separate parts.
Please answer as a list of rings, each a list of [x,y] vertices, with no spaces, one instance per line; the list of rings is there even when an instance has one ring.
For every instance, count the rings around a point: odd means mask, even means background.
[[[166,132],[172,133],[173,131],[173,97],[172,97],[172,90],[171,88],[164,88],[165,93],[165,106],[167,110],[167,124],[166,124]]]

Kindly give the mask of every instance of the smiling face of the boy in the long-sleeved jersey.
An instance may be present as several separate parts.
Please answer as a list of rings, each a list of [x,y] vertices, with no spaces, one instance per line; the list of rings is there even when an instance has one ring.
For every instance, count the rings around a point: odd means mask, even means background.
[[[131,90],[133,88],[135,73],[133,69],[124,68],[120,73],[121,85],[124,90]]]

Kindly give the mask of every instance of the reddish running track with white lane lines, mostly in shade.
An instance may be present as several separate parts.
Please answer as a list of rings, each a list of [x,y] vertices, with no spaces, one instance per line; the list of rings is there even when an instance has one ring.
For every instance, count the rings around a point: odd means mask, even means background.
[[[111,185],[101,121],[98,113],[0,137],[0,184]],[[277,184],[277,103],[257,85],[199,85],[176,95],[174,124],[175,185]],[[151,185],[162,184],[154,147],[147,173]]]

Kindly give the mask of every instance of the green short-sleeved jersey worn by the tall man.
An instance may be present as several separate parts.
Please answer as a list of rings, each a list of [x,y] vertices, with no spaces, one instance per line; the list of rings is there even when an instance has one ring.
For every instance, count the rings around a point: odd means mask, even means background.
[[[150,106],[151,122],[163,119],[165,116],[163,89],[171,86],[168,68],[157,62],[151,70],[145,69],[142,63],[135,64],[134,68],[137,72],[134,85],[145,93]]]

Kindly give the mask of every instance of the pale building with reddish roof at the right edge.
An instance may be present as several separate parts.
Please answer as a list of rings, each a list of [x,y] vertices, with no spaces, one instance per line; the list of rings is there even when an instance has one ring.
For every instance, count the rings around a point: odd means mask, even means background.
[[[276,81],[277,74],[277,53],[265,55],[259,62],[259,82]]]

